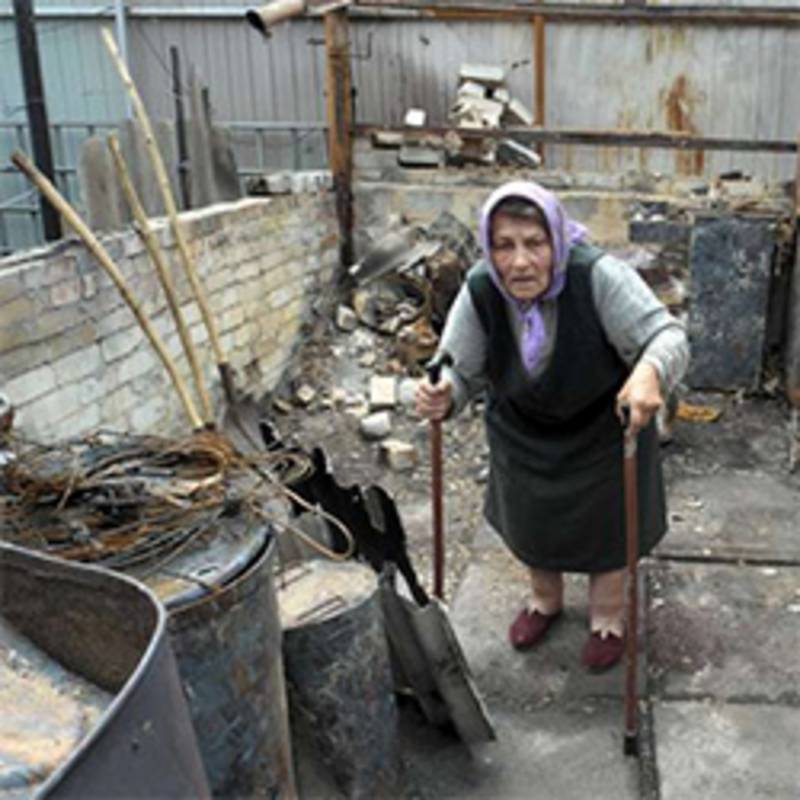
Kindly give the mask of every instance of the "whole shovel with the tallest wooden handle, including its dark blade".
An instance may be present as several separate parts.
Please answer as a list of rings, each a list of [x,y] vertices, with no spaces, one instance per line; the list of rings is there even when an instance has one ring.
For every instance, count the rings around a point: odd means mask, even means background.
[[[214,318],[211,316],[211,310],[208,306],[208,300],[205,295],[200,279],[197,276],[194,260],[189,253],[189,245],[186,241],[186,236],[178,219],[178,208],[175,203],[175,197],[172,193],[172,187],[169,182],[164,160],[158,150],[156,144],[153,126],[150,123],[150,118],[147,110],[144,107],[142,98],[136,89],[136,85],[130,76],[125,62],[122,60],[117,49],[116,42],[111,32],[106,28],[102,31],[103,42],[108,50],[111,60],[119,73],[122,83],[125,85],[128,95],[131,99],[133,110],[136,114],[139,124],[144,131],[145,144],[147,146],[147,153],[153,165],[161,196],[164,202],[164,208],[169,218],[170,227],[175,236],[175,243],[180,255],[181,264],[183,265],[186,277],[189,280],[189,285],[192,287],[195,301],[200,308],[200,316],[203,319],[203,324],[208,331],[208,338],[211,343],[211,349],[214,353],[214,360],[217,364],[219,371],[220,382],[222,383],[222,391],[225,396],[226,408],[224,409],[222,417],[222,429],[231,438],[231,441],[242,450],[249,452],[259,451],[260,445],[260,431],[258,421],[261,412],[257,403],[252,397],[237,397],[236,390],[233,384],[233,374],[227,359],[222,350],[222,344],[219,338],[219,331],[217,330]],[[212,423],[210,419],[206,419],[206,423]]]

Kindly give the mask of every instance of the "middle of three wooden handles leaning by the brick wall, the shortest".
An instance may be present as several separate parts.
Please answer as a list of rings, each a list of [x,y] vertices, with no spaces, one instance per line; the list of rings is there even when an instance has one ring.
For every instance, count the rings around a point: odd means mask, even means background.
[[[173,320],[175,320],[175,327],[178,329],[178,336],[180,336],[183,350],[186,353],[186,358],[189,361],[189,367],[192,371],[194,384],[200,396],[203,417],[206,423],[213,423],[214,412],[211,407],[211,398],[209,397],[208,389],[203,380],[203,372],[200,369],[200,362],[197,358],[197,348],[195,348],[192,342],[192,337],[189,335],[189,329],[186,327],[186,321],[183,318],[180,305],[178,304],[177,293],[172,283],[172,274],[170,273],[169,265],[164,258],[164,254],[161,252],[158,239],[150,226],[147,212],[144,210],[144,206],[139,199],[139,195],[131,180],[130,172],[128,171],[128,165],[125,163],[122,151],[120,150],[119,140],[114,134],[108,137],[108,148],[114,159],[114,166],[117,169],[117,177],[122,186],[122,192],[125,195],[128,207],[136,222],[136,232],[139,234],[145,250],[147,250],[147,254],[150,256],[150,260],[155,265],[156,274],[164,289],[164,295],[167,298],[169,310],[172,313]]]

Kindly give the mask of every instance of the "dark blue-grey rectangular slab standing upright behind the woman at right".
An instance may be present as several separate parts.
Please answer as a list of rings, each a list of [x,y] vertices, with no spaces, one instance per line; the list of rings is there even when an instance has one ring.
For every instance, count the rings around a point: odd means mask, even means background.
[[[689,386],[758,386],[774,248],[770,220],[696,221],[689,250]]]

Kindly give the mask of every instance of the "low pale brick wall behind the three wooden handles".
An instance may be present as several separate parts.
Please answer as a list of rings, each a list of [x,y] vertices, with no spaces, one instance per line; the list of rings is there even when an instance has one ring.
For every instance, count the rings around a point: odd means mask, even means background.
[[[312,306],[331,297],[325,289],[338,260],[332,195],[249,198],[182,218],[223,350],[239,386],[260,396],[279,380]],[[154,227],[219,407],[208,336],[171,231],[164,220],[154,221]],[[102,242],[191,386],[187,360],[138,237],[126,231]],[[169,377],[133,314],[74,241],[0,261],[0,391],[16,406],[19,429],[43,440],[98,426],[148,433],[188,429]]]

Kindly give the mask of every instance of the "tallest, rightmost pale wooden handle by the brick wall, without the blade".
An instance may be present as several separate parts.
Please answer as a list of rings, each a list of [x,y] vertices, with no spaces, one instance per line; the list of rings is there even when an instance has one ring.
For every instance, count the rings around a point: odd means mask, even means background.
[[[217,367],[219,368],[225,397],[228,402],[233,402],[234,392],[233,382],[230,375],[230,367],[222,352],[222,345],[220,343],[217,326],[214,322],[214,318],[211,316],[211,311],[208,307],[208,301],[206,300],[205,292],[203,291],[203,287],[197,277],[197,270],[194,267],[194,262],[192,261],[192,257],[189,253],[189,245],[186,242],[183,226],[178,219],[178,208],[175,205],[172,187],[170,186],[167,170],[164,167],[164,161],[161,158],[161,153],[159,152],[158,144],[156,143],[156,137],[153,134],[153,126],[150,124],[150,117],[147,115],[147,110],[144,107],[142,98],[139,96],[138,90],[136,89],[136,84],[134,84],[133,79],[128,72],[128,68],[125,66],[125,62],[120,57],[117,44],[114,41],[111,31],[107,28],[103,28],[102,35],[103,42],[105,43],[105,46],[111,55],[111,60],[114,62],[114,66],[117,68],[120,79],[125,85],[125,89],[131,98],[134,113],[136,114],[136,117],[142,126],[142,130],[144,131],[145,147],[153,164],[153,170],[156,173],[156,180],[158,181],[158,186],[161,190],[161,196],[164,200],[164,208],[166,209],[167,217],[169,218],[170,226],[172,227],[172,232],[175,235],[175,243],[178,246],[181,264],[186,272],[186,277],[189,279],[189,284],[192,287],[195,300],[197,301],[197,305],[200,307],[200,315],[202,316],[203,323],[208,331],[208,338],[211,342],[211,349],[214,351],[214,359],[217,362]]]

